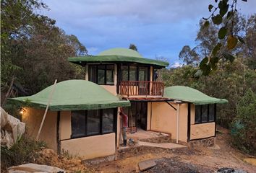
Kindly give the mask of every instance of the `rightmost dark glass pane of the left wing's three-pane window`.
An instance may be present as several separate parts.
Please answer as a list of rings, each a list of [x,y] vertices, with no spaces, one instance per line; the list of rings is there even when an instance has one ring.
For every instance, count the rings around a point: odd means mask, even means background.
[[[114,125],[114,110],[107,109],[102,110],[102,133],[111,133],[113,132],[113,125]]]

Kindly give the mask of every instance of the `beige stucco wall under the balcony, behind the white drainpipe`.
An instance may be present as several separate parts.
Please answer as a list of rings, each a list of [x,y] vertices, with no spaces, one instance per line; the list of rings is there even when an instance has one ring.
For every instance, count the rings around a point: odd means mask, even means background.
[[[148,104],[148,107],[150,105]],[[171,103],[171,105],[177,107],[175,103]],[[171,138],[176,139],[176,110],[166,102],[153,102],[151,116],[152,120],[150,120],[150,112],[148,112],[148,120],[151,123],[150,130],[171,133]],[[187,104],[179,104],[179,141],[187,142]]]

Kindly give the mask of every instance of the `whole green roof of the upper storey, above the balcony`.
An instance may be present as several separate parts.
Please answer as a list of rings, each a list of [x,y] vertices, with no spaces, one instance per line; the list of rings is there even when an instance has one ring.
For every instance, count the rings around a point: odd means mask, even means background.
[[[119,62],[119,63],[143,63],[153,66],[168,66],[167,62],[158,61],[150,58],[143,58],[140,53],[127,48],[112,48],[99,53],[97,56],[77,56],[68,58],[69,62],[79,63],[103,63],[103,62]]]

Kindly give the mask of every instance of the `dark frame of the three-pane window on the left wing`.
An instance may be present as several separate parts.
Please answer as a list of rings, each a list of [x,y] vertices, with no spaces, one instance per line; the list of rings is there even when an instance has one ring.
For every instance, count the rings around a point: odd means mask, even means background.
[[[95,133],[95,134],[90,134],[88,135],[88,110],[75,110],[75,111],[82,111],[84,112],[84,115],[85,115],[85,135],[75,135],[75,134],[72,134],[72,112],[71,111],[71,120],[70,120],[70,123],[71,123],[71,135],[70,135],[70,138],[73,139],[73,138],[84,138],[84,137],[89,137],[89,136],[100,136],[100,135],[105,135],[105,134],[108,134],[108,133],[116,133],[116,127],[117,127],[117,108],[109,108],[111,110],[113,110],[113,130],[110,132],[103,132],[103,110],[108,110],[108,109],[101,109],[101,110],[97,110],[98,113],[99,113],[99,118],[100,118],[100,130],[99,130],[99,133]]]

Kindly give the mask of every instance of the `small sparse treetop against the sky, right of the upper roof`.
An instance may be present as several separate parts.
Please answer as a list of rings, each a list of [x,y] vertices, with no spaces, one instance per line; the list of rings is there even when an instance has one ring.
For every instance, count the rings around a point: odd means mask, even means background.
[[[198,65],[200,60],[195,48],[191,49],[189,45],[184,45],[179,53],[179,59],[182,60],[187,65]]]

